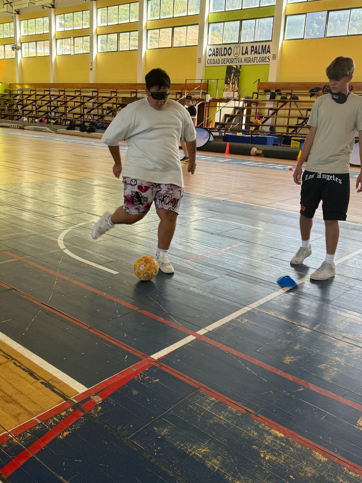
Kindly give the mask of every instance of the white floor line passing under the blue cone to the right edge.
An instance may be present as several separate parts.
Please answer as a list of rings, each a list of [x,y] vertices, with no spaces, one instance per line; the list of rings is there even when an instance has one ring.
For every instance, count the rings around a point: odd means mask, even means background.
[[[352,258],[352,256],[359,255],[360,253],[362,253],[362,248],[360,250],[356,250],[355,252],[353,252],[353,253],[351,253],[349,255],[344,256],[343,258],[339,258],[334,263],[337,265],[338,263],[342,263],[345,260],[348,260],[348,258]],[[307,280],[309,280],[309,275],[307,275],[306,277],[303,277],[303,278],[297,280],[296,283],[298,285],[300,285],[300,284],[303,284],[304,282],[306,282]],[[288,292],[288,290],[290,290],[291,288],[293,288],[293,287],[284,287],[284,288],[281,288],[281,289],[277,290],[276,292],[273,292],[270,295],[267,295],[266,297],[260,298],[256,302],[254,302],[254,303],[252,303],[252,304],[244,307],[243,309],[239,309],[236,312],[231,313],[230,315],[227,315],[226,317],[223,317],[220,320],[217,320],[213,324],[210,324],[209,326],[207,326],[207,327],[205,327],[203,329],[198,330],[196,332],[196,334],[204,335],[207,332],[211,332],[211,330],[214,330],[214,329],[216,329],[218,327],[223,326],[227,322],[230,322],[230,320],[233,320],[233,319],[239,317],[243,313],[249,312],[252,309],[256,309],[257,307],[259,307],[260,305],[263,305],[265,302],[268,302],[272,298],[279,297],[279,295],[282,295],[285,292]],[[151,355],[151,357],[153,357],[154,359],[159,359],[160,357],[163,357],[163,356],[169,354],[170,352],[173,352],[176,349],[179,349],[183,345],[188,344],[189,342],[194,341],[195,339],[197,339],[197,337],[195,337],[193,335],[189,335],[188,337],[185,337],[184,339],[181,339],[181,341],[178,341],[175,344],[169,345],[165,349],[162,349],[161,351],[156,352],[155,354]]]

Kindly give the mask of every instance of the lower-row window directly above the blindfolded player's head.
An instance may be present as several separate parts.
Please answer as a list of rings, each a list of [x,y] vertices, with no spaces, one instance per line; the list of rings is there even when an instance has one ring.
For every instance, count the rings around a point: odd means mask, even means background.
[[[186,47],[197,45],[198,25],[185,27],[155,28],[147,31],[147,48]]]

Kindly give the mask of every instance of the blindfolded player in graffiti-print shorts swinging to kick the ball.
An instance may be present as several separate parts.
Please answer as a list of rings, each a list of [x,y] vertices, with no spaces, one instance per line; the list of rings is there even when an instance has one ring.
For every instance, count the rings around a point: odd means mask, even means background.
[[[114,160],[113,173],[122,173],[124,204],[113,214],[106,212],[92,230],[92,238],[115,225],[132,225],[149,212],[153,202],[160,218],[156,260],[160,270],[173,273],[167,251],[172,241],[183,195],[180,138],[190,156],[187,171],[196,168],[196,131],[190,114],[178,102],[167,99],[170,78],[161,69],[146,75],[147,97],[122,109],[106,130],[102,142],[108,144]],[[119,142],[128,150],[122,167]]]

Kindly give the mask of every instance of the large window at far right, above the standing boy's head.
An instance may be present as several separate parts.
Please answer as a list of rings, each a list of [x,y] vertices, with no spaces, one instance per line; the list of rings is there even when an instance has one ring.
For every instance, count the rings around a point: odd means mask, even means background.
[[[362,8],[287,15],[284,40],[343,35],[362,35]]]

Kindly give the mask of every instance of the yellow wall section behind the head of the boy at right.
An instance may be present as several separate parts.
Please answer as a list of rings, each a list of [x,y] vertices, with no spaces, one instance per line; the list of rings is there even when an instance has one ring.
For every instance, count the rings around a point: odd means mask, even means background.
[[[281,51],[280,82],[325,81],[326,67],[335,57],[348,56],[356,62],[354,80],[362,81],[362,36],[326,39],[285,40]]]

